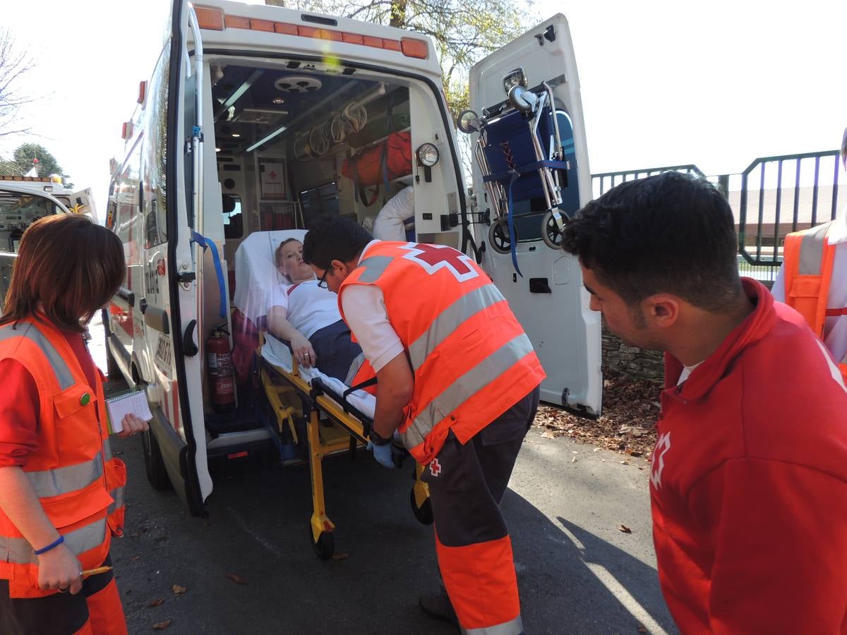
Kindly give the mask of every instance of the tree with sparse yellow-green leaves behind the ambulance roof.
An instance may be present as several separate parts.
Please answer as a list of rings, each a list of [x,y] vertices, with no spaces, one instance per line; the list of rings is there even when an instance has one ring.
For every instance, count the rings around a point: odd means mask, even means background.
[[[531,14],[529,0],[296,0],[293,5],[430,36],[454,119],[468,108],[468,69],[527,30]]]

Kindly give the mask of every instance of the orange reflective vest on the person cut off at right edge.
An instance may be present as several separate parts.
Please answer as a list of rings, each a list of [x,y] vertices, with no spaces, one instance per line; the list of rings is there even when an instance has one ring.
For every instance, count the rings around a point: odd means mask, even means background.
[[[823,340],[827,320],[829,284],[833,279],[835,246],[827,240],[833,221],[785,236],[783,277],[785,303],[805,319],[811,330]],[[847,364],[839,362],[839,370],[847,380]]]

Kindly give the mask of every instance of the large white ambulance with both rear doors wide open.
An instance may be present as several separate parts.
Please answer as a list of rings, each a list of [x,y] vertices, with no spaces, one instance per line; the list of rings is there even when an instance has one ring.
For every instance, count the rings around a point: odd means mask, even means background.
[[[107,218],[127,264],[125,287],[104,319],[109,365],[147,390],[154,418],[145,450],[155,487],[170,481],[200,514],[213,489],[209,456],[242,456],[273,440],[245,406],[249,381],[239,378],[230,412],[216,411],[210,389],[208,341],[219,326],[235,334],[247,319],[235,284],[246,279],[237,270],[249,260],[244,252],[260,236],[307,229],[320,214],[365,221],[402,187],[413,188],[415,240],[476,257],[506,295],[547,372],[542,399],[599,415],[600,321],[578,263],[545,245],[540,217],[518,228],[523,277],[511,254],[486,246],[490,202],[476,169],[477,194],[466,191],[427,37],[222,0],[193,8],[177,1],[172,11],[156,68],[124,125]],[[573,213],[590,198],[590,172],[562,15],[473,67],[473,108],[488,113],[502,104],[504,77],[516,69],[527,86],[551,86],[556,111],[573,129],[561,206]],[[375,184],[360,191],[342,175],[346,159],[379,147],[391,131],[411,135],[409,174],[379,179],[375,196]],[[524,203],[536,204],[516,201],[516,209]]]

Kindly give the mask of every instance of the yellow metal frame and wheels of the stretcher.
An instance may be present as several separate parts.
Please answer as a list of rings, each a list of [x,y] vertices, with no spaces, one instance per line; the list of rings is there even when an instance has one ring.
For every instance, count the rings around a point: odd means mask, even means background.
[[[312,477],[312,518],[309,522],[309,534],[312,538],[312,546],[321,560],[329,560],[335,552],[335,523],[326,515],[326,504],[324,498],[324,456],[329,456],[341,451],[355,451],[358,446],[368,443],[370,433],[370,422],[360,421],[352,413],[346,412],[338,402],[331,396],[316,394],[315,389],[302,377],[297,367],[296,359],[291,357],[291,372],[285,368],[275,366],[261,355],[264,344],[264,334],[259,335],[259,346],[256,354],[261,360],[259,365],[259,379],[264,394],[267,396],[271,407],[277,418],[280,433],[284,427],[291,430],[294,442],[299,443],[295,417],[297,410],[294,406],[287,405],[291,402],[291,393],[295,393],[302,404],[310,405],[308,413],[303,412],[306,417],[306,436],[309,456],[309,472]],[[274,374],[285,379],[289,385],[280,385],[274,382],[274,378],[268,372],[273,369]],[[332,427],[321,425],[320,413],[323,411],[334,423]],[[432,524],[432,506],[429,501],[429,486],[421,480],[424,467],[415,463],[415,482],[409,496],[412,513],[418,522],[424,525]]]

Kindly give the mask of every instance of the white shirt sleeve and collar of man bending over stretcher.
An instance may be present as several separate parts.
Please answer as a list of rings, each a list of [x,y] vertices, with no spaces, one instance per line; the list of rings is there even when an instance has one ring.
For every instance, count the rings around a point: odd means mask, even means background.
[[[371,240],[365,246],[359,262],[367,257],[368,249],[377,242],[379,240]],[[406,350],[400,336],[388,321],[385,297],[376,284],[351,284],[345,287],[341,304],[344,306],[346,322],[375,372],[379,373],[385,364]]]

